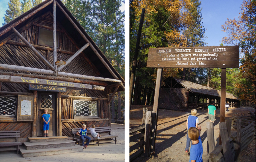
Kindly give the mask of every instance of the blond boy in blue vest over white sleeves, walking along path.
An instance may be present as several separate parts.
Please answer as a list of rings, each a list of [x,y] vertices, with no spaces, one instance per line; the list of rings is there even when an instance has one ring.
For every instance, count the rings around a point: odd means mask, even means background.
[[[198,126],[198,117],[196,117],[195,115],[197,114],[197,110],[196,109],[192,109],[191,110],[191,115],[188,116],[187,118],[187,130],[190,128],[190,127],[196,127]],[[188,155],[188,149],[189,149],[189,145],[190,145],[190,138],[188,137],[188,134],[187,134],[187,143],[186,143],[186,148],[185,148],[185,155]]]

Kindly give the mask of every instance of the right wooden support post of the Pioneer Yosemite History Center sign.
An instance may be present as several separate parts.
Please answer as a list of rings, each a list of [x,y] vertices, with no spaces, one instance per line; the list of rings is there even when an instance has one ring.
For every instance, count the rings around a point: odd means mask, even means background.
[[[225,122],[225,101],[226,101],[226,75],[227,69],[221,69],[221,103],[220,103],[220,123]],[[219,136],[219,145],[221,145],[221,135]]]

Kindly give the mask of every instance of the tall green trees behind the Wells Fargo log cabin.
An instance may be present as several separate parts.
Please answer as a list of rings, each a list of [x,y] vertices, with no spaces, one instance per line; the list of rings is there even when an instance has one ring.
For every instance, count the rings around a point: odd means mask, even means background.
[[[3,17],[4,24],[41,3],[42,0],[10,0]],[[88,35],[94,40],[109,62],[124,78],[125,35],[124,11],[121,0],[65,0],[62,1]],[[123,1],[124,3],[124,1]],[[117,92],[111,102],[112,121],[121,117],[125,107],[125,93]],[[118,112],[118,113],[117,113]]]

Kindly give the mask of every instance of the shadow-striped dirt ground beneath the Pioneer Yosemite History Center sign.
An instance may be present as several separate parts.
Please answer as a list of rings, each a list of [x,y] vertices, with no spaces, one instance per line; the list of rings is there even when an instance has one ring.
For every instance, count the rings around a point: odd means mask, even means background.
[[[143,116],[143,107],[147,107],[149,111],[153,110],[153,106],[134,105],[132,106],[130,114],[130,128],[141,124]],[[226,112],[225,119],[235,116],[246,116],[249,111],[254,111],[251,107],[229,108]],[[186,120],[191,115],[190,112],[172,111],[172,110],[159,110],[158,123],[157,123],[157,136],[155,143],[155,153],[149,158],[140,155],[133,162],[147,161],[147,162],[167,162],[167,161],[189,161],[189,156],[185,155],[186,147]],[[207,134],[206,122],[209,121],[207,109],[202,111],[198,110],[196,116],[198,117],[198,126],[202,127],[201,139],[203,143],[203,161],[207,161]],[[216,117],[214,121],[214,137],[215,145],[218,146],[219,141],[219,125],[220,122],[220,109],[216,110]],[[235,131],[235,130],[232,130]],[[190,148],[189,148],[190,149]],[[190,152],[190,150],[189,150]],[[255,161],[255,140],[241,153],[241,161]]]

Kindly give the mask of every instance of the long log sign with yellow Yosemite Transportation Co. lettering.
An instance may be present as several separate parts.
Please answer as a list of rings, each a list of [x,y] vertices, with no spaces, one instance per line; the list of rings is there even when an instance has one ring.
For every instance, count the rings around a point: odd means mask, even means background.
[[[21,83],[21,84],[30,84],[34,85],[46,85],[46,86],[59,86],[59,87],[74,87],[74,88],[83,88],[83,89],[94,89],[104,91],[105,87],[102,86],[94,86],[89,84],[80,84],[80,83],[72,83],[67,81],[53,81],[47,79],[37,79],[37,78],[28,78],[21,76],[9,76],[9,75],[1,75],[0,79],[3,82],[11,82],[11,83]]]

